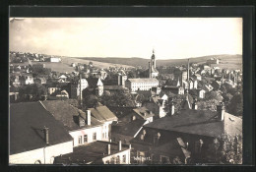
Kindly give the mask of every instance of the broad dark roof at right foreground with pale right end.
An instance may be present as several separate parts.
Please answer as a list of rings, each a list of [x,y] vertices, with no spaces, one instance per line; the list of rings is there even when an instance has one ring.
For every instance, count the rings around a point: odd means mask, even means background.
[[[210,110],[180,110],[173,116],[160,118],[146,127],[207,137],[242,135],[240,118],[225,112],[224,121],[219,121],[215,118],[217,115],[217,112]]]

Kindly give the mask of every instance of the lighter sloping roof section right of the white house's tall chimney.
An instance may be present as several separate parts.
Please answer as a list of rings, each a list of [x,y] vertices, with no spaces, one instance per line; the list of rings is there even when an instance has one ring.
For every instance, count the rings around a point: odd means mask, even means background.
[[[117,117],[106,106],[99,105],[89,110],[98,121],[117,121]]]

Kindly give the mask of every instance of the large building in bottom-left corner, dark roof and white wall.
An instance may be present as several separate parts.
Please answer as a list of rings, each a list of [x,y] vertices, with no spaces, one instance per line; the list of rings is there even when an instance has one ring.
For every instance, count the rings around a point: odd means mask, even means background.
[[[73,139],[40,102],[10,106],[10,164],[52,164],[73,152]]]

